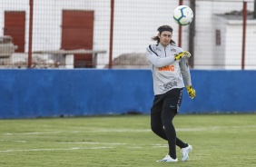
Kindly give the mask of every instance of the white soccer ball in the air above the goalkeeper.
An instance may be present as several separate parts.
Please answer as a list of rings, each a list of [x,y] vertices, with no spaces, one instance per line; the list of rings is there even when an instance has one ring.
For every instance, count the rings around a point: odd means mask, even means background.
[[[173,18],[178,25],[190,25],[193,19],[192,9],[187,5],[179,5],[174,9]]]

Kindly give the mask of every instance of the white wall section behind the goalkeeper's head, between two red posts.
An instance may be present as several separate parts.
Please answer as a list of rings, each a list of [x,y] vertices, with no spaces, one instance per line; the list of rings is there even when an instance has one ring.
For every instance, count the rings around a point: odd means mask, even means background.
[[[173,26],[177,42],[178,26],[172,19],[172,9],[178,2],[153,0],[116,0],[114,10],[113,56],[123,53],[144,53],[151,37],[161,25]]]

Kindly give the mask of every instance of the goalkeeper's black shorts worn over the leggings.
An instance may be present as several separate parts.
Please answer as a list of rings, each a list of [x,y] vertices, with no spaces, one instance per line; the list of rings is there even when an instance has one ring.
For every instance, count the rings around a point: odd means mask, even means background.
[[[175,88],[167,93],[159,94],[154,96],[153,107],[151,113],[162,112],[162,108],[177,109],[182,104],[182,88]]]

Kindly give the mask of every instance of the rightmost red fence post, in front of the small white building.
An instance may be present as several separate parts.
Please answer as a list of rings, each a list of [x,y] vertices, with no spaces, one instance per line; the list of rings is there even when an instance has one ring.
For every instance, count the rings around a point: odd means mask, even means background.
[[[242,7],[242,46],[241,46],[241,69],[244,70],[245,59],[245,40],[246,40],[246,19],[247,19],[247,2],[243,2]]]

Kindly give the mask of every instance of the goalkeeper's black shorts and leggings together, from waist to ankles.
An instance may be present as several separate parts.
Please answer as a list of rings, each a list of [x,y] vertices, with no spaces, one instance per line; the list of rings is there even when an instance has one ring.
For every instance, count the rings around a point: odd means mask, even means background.
[[[181,89],[171,90],[166,94],[155,96],[151,112],[152,131],[168,141],[169,154],[173,159],[176,158],[176,145],[180,148],[187,147],[187,143],[182,142],[182,140],[176,137],[176,131],[172,123],[177,113],[177,107],[172,108],[172,106],[180,106],[181,96]]]

